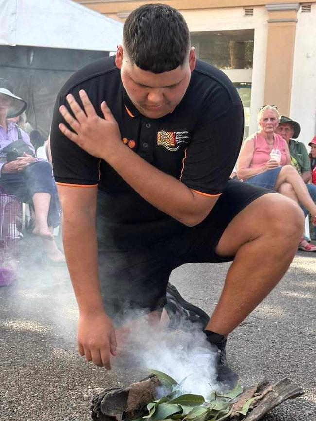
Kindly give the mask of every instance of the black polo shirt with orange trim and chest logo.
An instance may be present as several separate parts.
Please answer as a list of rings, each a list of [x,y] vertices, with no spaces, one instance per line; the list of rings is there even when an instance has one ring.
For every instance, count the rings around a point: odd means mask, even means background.
[[[87,92],[101,117],[101,102],[107,102],[119,124],[122,141],[147,162],[200,194],[212,196],[223,191],[240,150],[244,114],[236,89],[222,71],[198,60],[180,104],[158,119],[143,116],[132,104],[115,57],[77,71],[57,97],[51,127],[56,182],[98,185],[109,223],[176,223],[143,200],[105,161],[90,156],[59,131],[58,124],[65,123],[59,106],[68,106],[68,93],[81,104],[80,89]]]

